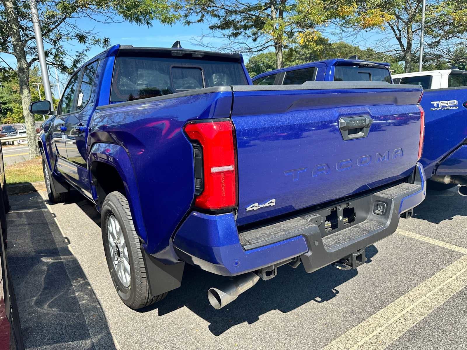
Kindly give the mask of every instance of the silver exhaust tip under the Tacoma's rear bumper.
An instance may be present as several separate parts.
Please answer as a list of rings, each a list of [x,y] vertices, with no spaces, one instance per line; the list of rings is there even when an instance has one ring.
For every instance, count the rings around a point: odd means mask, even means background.
[[[260,277],[255,273],[245,273],[235,277],[233,280],[227,281],[219,288],[209,288],[207,291],[207,298],[211,306],[216,310],[223,308],[231,303],[243,292],[253,287]]]

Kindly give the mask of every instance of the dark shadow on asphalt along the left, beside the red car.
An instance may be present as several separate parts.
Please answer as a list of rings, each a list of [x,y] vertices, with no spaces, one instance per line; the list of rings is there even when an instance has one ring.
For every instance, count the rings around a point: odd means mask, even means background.
[[[115,349],[106,316],[37,193],[10,196],[7,259],[26,348]]]

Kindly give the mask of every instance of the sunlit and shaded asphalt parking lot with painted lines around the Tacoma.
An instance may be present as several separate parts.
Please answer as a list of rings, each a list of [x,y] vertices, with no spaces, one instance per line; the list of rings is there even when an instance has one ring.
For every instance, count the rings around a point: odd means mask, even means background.
[[[357,270],[279,268],[213,309],[219,277],[186,266],[182,287],[127,308],[107,270],[99,215],[74,193],[10,196],[8,259],[29,349],[466,349],[467,209],[428,191],[415,216]]]

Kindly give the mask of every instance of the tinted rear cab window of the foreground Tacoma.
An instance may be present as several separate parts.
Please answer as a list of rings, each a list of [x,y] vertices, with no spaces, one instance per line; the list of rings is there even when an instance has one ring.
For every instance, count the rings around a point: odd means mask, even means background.
[[[248,85],[241,63],[183,58],[117,57],[111,102],[219,85]]]

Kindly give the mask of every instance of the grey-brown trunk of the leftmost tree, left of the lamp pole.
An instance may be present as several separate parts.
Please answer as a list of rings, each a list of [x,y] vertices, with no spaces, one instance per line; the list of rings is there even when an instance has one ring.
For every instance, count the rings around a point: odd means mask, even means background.
[[[20,85],[21,105],[23,107],[24,124],[26,125],[26,134],[28,137],[29,156],[31,158],[39,156],[37,146],[37,136],[35,132],[34,115],[29,112],[31,104],[31,91],[29,90],[29,64],[24,51],[25,44],[21,41],[20,26],[18,17],[14,13],[12,0],[3,0],[5,13],[8,20],[8,31],[13,42],[13,52],[17,62],[18,82]]]

